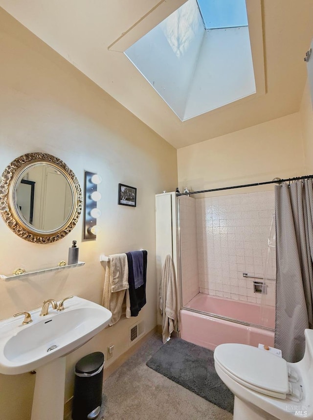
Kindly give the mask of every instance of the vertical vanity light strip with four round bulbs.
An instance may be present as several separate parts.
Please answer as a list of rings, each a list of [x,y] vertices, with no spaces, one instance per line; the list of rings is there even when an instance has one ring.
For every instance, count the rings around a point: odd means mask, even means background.
[[[96,239],[100,232],[96,219],[101,215],[101,211],[97,209],[97,202],[101,200],[97,186],[101,181],[98,174],[85,171],[84,239]]]

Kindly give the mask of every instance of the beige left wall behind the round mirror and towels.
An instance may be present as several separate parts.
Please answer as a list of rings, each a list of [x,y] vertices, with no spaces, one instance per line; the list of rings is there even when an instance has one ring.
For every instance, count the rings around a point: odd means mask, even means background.
[[[82,241],[82,217],[56,243],[29,243],[0,219],[0,274],[67,260],[77,240],[85,266],[24,280],[0,282],[0,319],[39,307],[44,299],[78,295],[102,299],[105,266],[100,254],[148,250],[147,304],[137,318],[121,320],[67,357],[66,399],[72,395],[75,362],[115,345],[110,363],[128,350],[129,327],[156,326],[155,194],[177,186],[177,153],[166,141],[0,9],[0,168],[16,157],[44,151],[62,159],[84,185],[84,170],[99,173],[102,194],[96,241]],[[137,187],[137,207],[117,205],[118,183]],[[109,363],[107,363],[108,365]],[[30,417],[34,375],[0,375],[0,418]],[[27,390],[27,387],[30,387]]]

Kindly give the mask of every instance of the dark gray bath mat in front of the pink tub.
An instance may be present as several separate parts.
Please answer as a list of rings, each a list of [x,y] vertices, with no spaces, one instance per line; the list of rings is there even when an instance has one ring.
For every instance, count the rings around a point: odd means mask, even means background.
[[[218,407],[233,412],[234,396],[215,371],[213,351],[174,338],[157,350],[147,366]]]

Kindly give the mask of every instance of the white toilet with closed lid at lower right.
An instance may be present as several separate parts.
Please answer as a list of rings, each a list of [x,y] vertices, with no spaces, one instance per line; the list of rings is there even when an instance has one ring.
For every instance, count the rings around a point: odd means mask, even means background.
[[[245,344],[216,347],[216,372],[235,396],[233,420],[313,420],[313,329],[305,340],[297,363]]]

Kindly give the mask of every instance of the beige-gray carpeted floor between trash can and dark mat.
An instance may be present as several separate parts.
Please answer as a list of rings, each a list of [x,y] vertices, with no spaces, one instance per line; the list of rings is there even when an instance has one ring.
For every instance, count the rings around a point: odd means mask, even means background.
[[[227,411],[146,366],[162,346],[155,334],[104,381],[98,420],[231,420]]]

